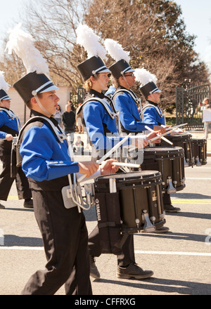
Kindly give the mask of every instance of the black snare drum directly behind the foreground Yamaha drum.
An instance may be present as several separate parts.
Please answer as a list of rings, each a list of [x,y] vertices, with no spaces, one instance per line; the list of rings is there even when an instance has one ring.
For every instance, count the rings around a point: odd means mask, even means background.
[[[183,190],[184,149],[181,147],[146,147],[143,152],[143,164],[155,162],[162,174],[162,185],[166,193],[176,193]],[[147,165],[146,165],[147,166]],[[142,168],[142,165],[141,165]]]

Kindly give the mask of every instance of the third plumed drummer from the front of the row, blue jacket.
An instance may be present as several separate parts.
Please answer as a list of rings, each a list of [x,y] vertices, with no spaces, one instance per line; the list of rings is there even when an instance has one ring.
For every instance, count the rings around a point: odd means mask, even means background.
[[[113,96],[115,109],[120,111],[120,121],[122,132],[142,132],[146,131],[145,126],[151,129],[158,129],[161,133],[165,132],[165,128],[158,124],[148,124],[141,121],[137,103],[139,99],[135,93],[130,90],[136,83],[134,76],[135,70],[130,67],[128,61],[129,55],[125,52],[120,44],[111,39],[106,39],[105,46],[108,53],[117,61],[109,67],[118,84]],[[120,52],[121,51],[121,52]],[[156,229],[155,232],[168,232],[169,228],[163,226]]]

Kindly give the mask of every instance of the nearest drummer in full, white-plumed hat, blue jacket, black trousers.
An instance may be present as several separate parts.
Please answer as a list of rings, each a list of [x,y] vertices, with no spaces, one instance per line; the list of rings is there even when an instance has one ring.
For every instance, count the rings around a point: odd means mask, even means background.
[[[34,48],[32,37],[18,25],[7,46],[23,59],[27,69],[27,74],[13,85],[32,112],[30,123],[21,131],[20,155],[23,171],[30,180],[34,215],[47,259],[46,268],[30,277],[22,294],[55,294],[63,284],[66,294],[92,294],[84,213],[74,204],[72,208],[65,207],[61,190],[69,185],[68,174],[79,172],[89,177],[96,173],[98,164],[71,160],[65,135],[53,119],[58,88],[49,79],[49,68]],[[102,174],[117,171],[110,161],[100,169]]]

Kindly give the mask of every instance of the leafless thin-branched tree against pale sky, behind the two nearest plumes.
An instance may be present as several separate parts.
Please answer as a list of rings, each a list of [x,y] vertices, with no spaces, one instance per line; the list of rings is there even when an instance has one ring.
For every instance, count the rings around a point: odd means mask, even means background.
[[[82,82],[76,67],[86,53],[76,44],[75,30],[83,21],[85,10],[81,0],[30,0],[25,4],[22,27],[34,37],[35,46],[49,65],[51,78],[58,85],[77,88]],[[18,73],[24,74],[25,68],[15,55],[6,55],[1,67],[8,71],[11,62],[17,63]],[[17,74],[11,79],[15,81]]]

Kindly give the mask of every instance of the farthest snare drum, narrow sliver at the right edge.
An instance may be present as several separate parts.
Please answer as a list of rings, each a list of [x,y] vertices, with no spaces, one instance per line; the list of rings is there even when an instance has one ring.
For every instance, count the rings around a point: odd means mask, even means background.
[[[196,166],[207,164],[207,140],[193,138],[192,149]]]

